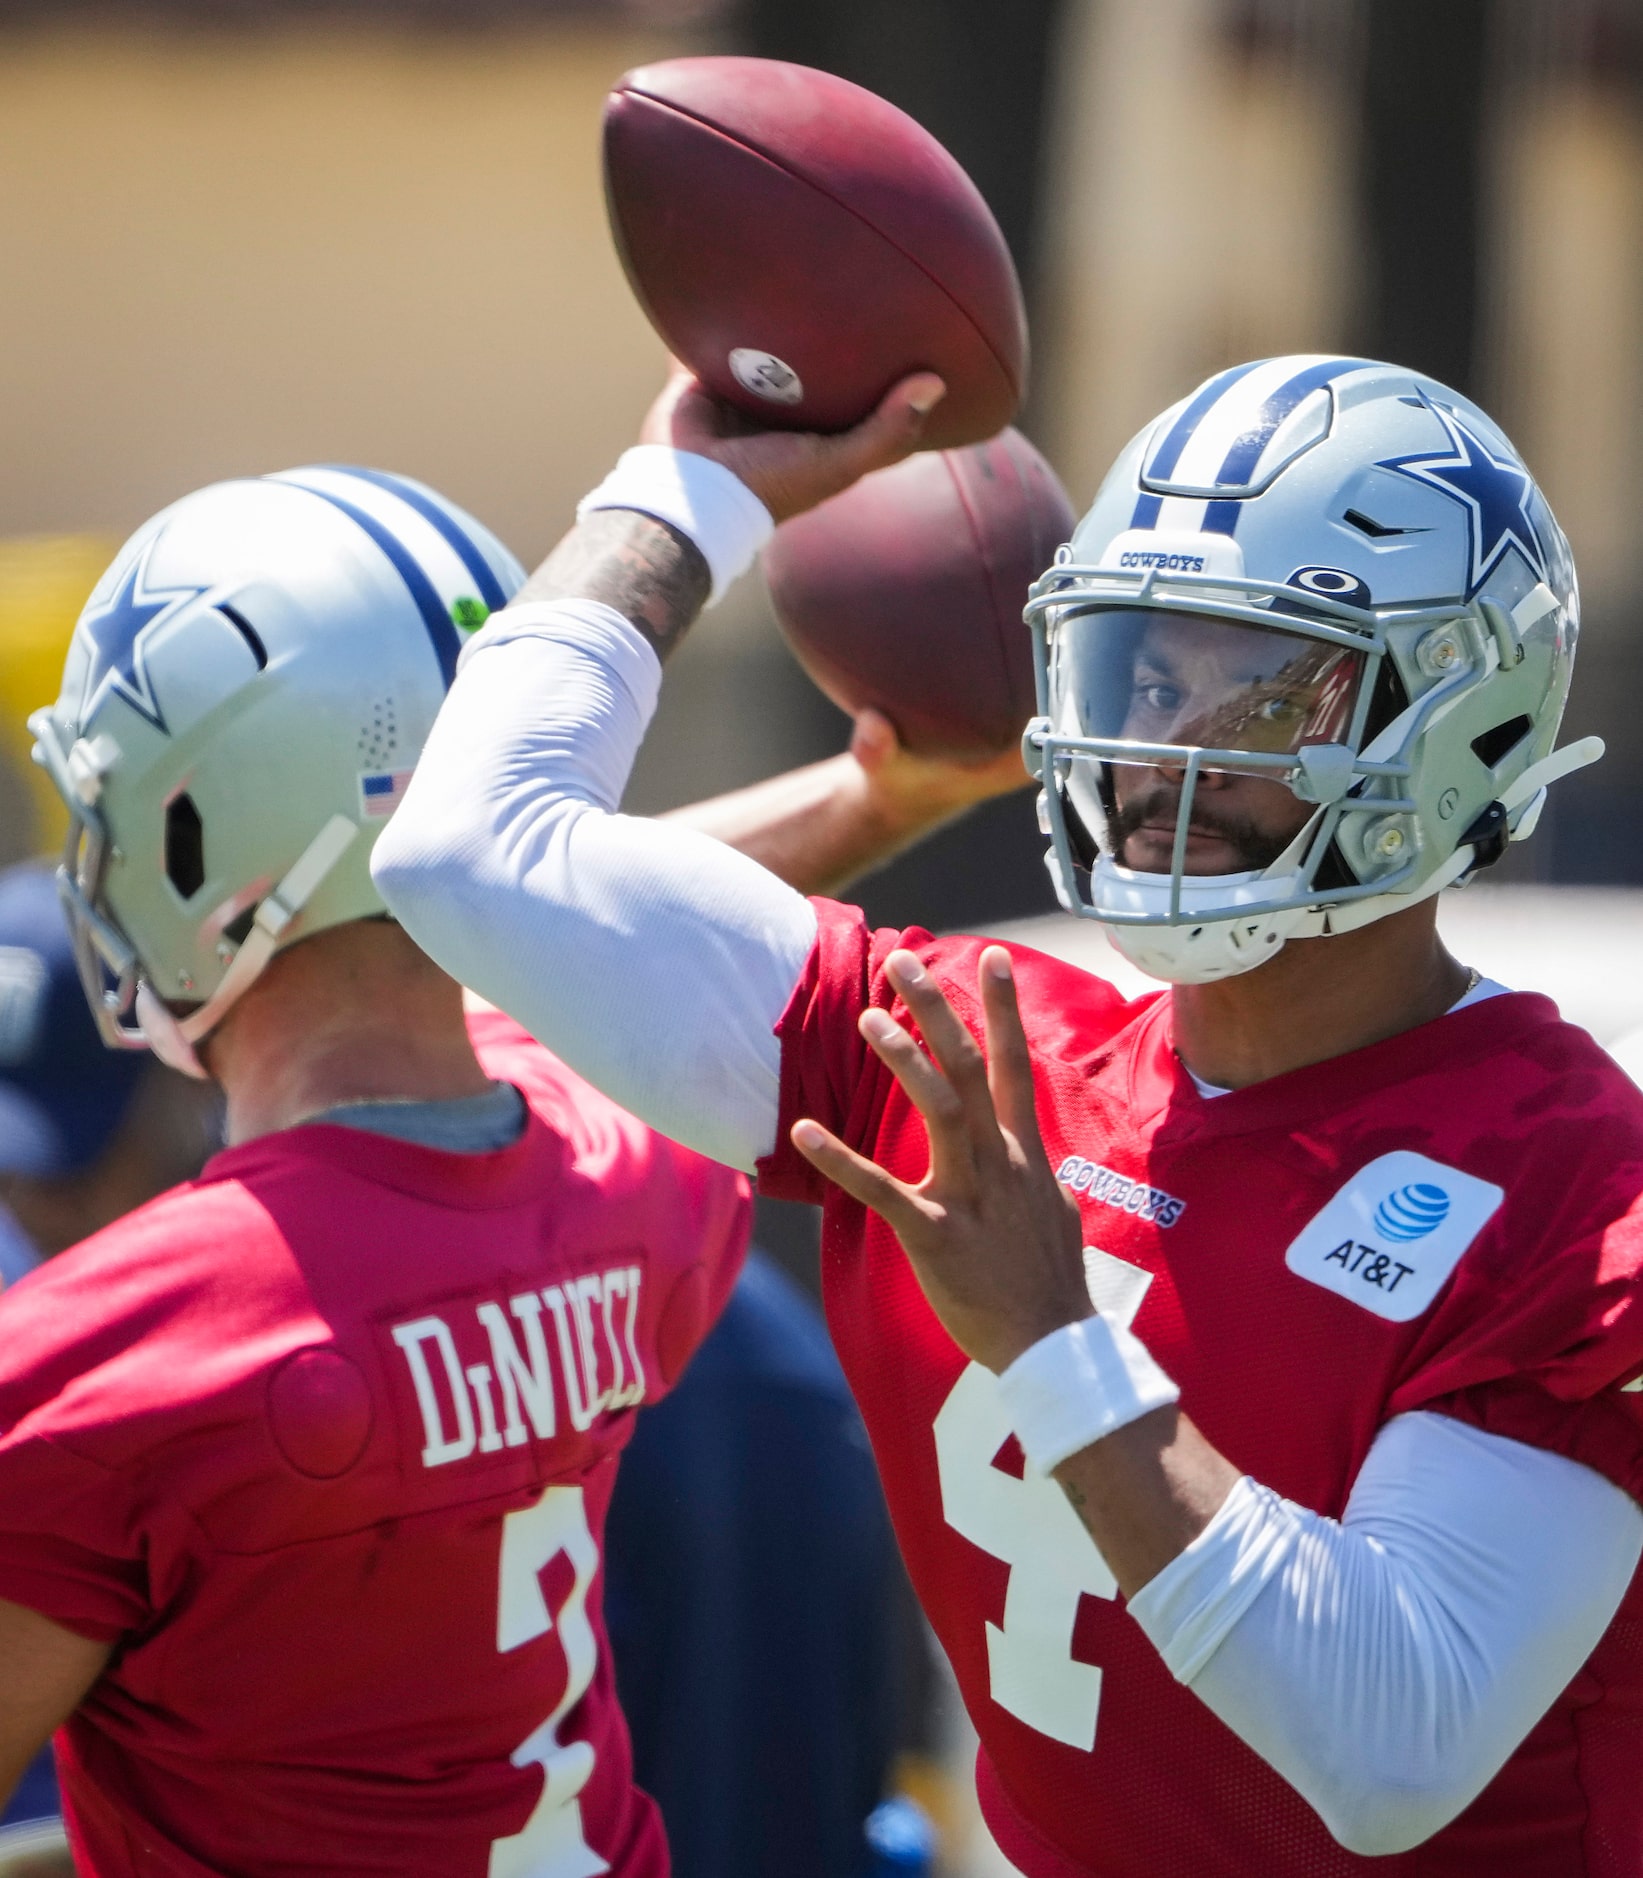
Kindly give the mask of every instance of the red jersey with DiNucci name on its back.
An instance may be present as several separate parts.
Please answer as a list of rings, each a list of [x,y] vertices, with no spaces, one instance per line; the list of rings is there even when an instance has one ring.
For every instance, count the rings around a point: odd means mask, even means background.
[[[513,1147],[267,1134],[0,1303],[0,1596],[116,1643],[56,1743],[84,1878],[667,1872],[599,1544],[747,1187],[473,1035]]]

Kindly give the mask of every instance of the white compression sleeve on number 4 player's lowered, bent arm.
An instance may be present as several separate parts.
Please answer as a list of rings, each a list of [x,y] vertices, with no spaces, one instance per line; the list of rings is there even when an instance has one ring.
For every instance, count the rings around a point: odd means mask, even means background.
[[[1241,1480],[1130,1598],[1177,1681],[1352,1852],[1405,1852],[1500,1771],[1609,1626],[1643,1510],[1440,1414],[1388,1422],[1343,1519]]]

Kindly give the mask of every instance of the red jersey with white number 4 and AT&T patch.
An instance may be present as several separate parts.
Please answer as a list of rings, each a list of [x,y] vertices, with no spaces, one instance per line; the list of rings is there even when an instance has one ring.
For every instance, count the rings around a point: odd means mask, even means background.
[[[924,1123],[862,1042],[914,950],[980,1035],[982,941],[817,905],[789,1005],[766,1191],[824,1200],[834,1339],[913,1583],[980,1732],[982,1809],[1029,1878],[1637,1878],[1643,1594],[1493,1784],[1427,1844],[1343,1850],[1127,1615],[1053,1480],[1023,1478],[993,1375],[890,1230],[787,1146],[813,1116],[903,1179]],[[1339,1517],[1376,1431],[1436,1410],[1643,1495],[1643,1095],[1557,1008],[1497,997],[1215,1099],[1170,999],[1016,952],[1038,1119],[1091,1296],[1134,1322],[1204,1435]]]

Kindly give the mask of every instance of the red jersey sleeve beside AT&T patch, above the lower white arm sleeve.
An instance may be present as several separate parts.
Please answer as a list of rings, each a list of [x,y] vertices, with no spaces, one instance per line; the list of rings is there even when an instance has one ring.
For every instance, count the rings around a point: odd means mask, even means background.
[[[1545,1131],[1410,1350],[1390,1410],[1431,1408],[1549,1448],[1643,1501],[1643,1157],[1609,1153],[1613,1114],[1600,1132],[1577,1117]]]

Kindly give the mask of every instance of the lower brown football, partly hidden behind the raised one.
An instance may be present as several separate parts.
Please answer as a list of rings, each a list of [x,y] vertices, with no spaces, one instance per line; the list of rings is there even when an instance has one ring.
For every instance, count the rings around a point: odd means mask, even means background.
[[[785,522],[764,575],[800,665],[841,710],[877,706],[909,749],[982,755],[1033,716],[1021,608],[1074,520],[1050,464],[1005,430]]]

